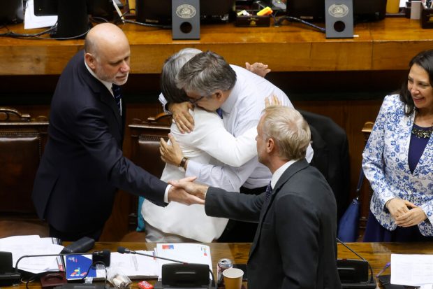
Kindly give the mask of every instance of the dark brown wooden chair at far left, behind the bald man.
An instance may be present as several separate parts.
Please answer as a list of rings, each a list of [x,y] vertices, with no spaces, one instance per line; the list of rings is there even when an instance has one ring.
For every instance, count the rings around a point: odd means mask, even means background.
[[[0,108],[0,238],[49,234],[31,200],[47,127],[45,117],[32,119],[13,108]]]

